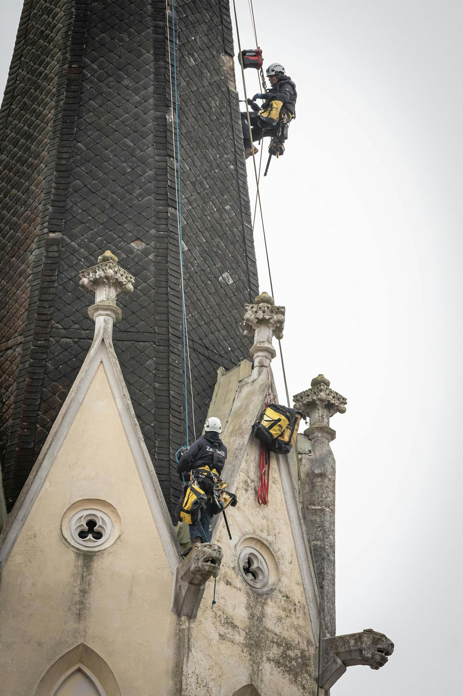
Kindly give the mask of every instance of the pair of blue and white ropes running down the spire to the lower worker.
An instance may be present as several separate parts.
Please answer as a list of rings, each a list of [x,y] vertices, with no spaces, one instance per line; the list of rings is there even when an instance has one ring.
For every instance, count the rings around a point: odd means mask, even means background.
[[[168,55],[169,55],[169,77],[170,77],[170,107],[172,109],[172,117],[174,113],[174,103],[172,94],[172,65],[170,63],[170,31],[169,31],[169,7],[168,0],[165,0],[165,17],[168,25]],[[180,178],[180,136],[179,136],[179,95],[177,91],[177,45],[175,40],[175,10],[174,0],[172,0],[172,44],[174,47],[174,92],[175,92],[175,127],[172,118],[172,138],[174,140],[174,164],[175,164],[175,199],[177,203],[177,223],[179,229],[179,254],[180,254],[180,287],[181,287],[181,314],[182,314],[182,333],[184,344],[184,379],[185,379],[185,420],[186,420],[186,442],[190,443],[188,433],[188,385],[186,378],[186,364],[188,359],[188,373],[190,377],[190,394],[191,394],[191,411],[193,416],[193,435],[196,439],[195,429],[195,401],[193,399],[193,386],[191,380],[191,365],[190,365],[190,348],[188,346],[188,329],[186,326],[186,310],[185,310],[185,287],[184,287],[184,246],[183,235],[181,230],[181,178]],[[177,153],[176,145],[177,143]],[[177,156],[176,156],[177,155]]]

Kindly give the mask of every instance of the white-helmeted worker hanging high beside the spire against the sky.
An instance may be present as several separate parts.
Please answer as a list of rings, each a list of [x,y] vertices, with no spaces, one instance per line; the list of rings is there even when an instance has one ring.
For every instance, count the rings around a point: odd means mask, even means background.
[[[263,94],[254,94],[252,99],[247,100],[253,112],[249,114],[253,143],[262,140],[265,136],[276,136],[279,121],[283,115],[286,115],[288,122],[295,118],[295,103],[298,93],[291,77],[285,74],[283,65],[272,63],[268,66],[266,75],[272,85],[270,89]],[[263,100],[261,109],[256,104],[257,99]],[[243,126],[243,142],[247,159],[252,154],[255,155],[259,150],[251,143],[246,111],[241,113],[241,124]]]

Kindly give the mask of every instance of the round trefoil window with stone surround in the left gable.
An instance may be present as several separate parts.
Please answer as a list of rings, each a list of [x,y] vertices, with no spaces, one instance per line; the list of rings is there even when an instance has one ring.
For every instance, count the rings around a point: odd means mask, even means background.
[[[120,516],[106,500],[78,500],[61,519],[63,537],[72,546],[100,551],[120,535]]]

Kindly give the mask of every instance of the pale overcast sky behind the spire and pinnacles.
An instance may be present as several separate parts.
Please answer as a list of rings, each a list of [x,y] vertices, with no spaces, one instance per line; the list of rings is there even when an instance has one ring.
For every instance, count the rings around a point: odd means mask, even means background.
[[[1,0],[1,89],[21,4]],[[237,7],[251,48],[247,0]],[[351,667],[332,695],[460,695],[463,5],[254,0],[254,12],[266,64],[283,63],[299,95],[261,184],[289,390],[323,372],[348,399],[332,419],[337,633],[396,644],[380,672]],[[251,160],[248,175],[252,193]],[[260,223],[255,237],[270,292]]]

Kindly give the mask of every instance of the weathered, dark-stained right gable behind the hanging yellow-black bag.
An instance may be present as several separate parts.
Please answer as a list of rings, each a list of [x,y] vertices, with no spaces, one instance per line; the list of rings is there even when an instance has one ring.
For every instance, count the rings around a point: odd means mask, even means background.
[[[232,541],[222,516],[216,517],[212,540],[224,557],[216,605],[208,583],[190,627],[184,692],[192,696],[204,693],[206,684],[211,696],[234,693],[243,683],[287,696],[311,693],[315,685],[318,601],[289,457],[272,455],[269,504],[257,503],[260,443],[250,428],[267,390],[266,374],[241,382],[225,431],[224,478],[238,505],[227,511]],[[266,573],[268,582],[259,587]],[[250,584],[246,576],[252,574],[257,582]]]

